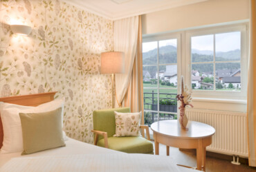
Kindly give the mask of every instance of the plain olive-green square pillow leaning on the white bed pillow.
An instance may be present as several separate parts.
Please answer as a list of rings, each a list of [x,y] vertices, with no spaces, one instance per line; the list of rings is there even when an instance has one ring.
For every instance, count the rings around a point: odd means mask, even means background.
[[[43,113],[19,113],[23,135],[21,155],[66,146],[62,136],[62,107]]]

